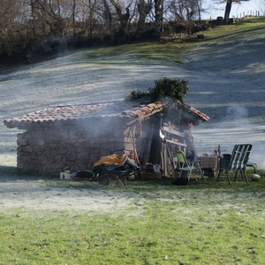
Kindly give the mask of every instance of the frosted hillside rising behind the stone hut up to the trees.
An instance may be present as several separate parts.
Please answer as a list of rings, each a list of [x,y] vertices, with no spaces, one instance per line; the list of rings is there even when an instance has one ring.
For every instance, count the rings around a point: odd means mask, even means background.
[[[223,152],[231,152],[235,143],[249,142],[254,145],[251,159],[265,167],[263,28],[239,32],[233,27],[232,32],[218,37],[204,33],[203,42],[186,41],[184,53],[175,42],[160,43],[160,49],[157,44],[145,43],[140,45],[141,50],[139,46],[133,51],[124,46],[112,48],[115,54],[110,53],[111,49],[79,50],[45,62],[4,69],[0,72],[0,119],[49,105],[124,98],[133,89],[152,87],[154,80],[162,77],[187,79],[191,89],[186,102],[211,117],[194,132],[198,151],[212,152],[221,144]],[[148,45],[156,47],[153,54]],[[176,57],[172,57],[174,47]],[[165,48],[167,56],[163,56]],[[171,60],[157,59],[161,57]],[[183,64],[174,63],[179,59]],[[16,164],[17,133],[1,123],[2,166]]]

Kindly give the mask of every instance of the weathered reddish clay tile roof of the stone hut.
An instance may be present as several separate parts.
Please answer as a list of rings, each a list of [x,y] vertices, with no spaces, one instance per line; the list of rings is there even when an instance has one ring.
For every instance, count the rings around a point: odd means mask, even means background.
[[[144,120],[149,116],[163,110],[162,102],[153,102],[150,104],[142,104],[133,106],[132,102],[125,100],[117,100],[110,102],[92,102],[86,104],[75,105],[59,105],[49,107],[42,110],[23,115],[21,117],[13,117],[4,120],[4,125],[9,128],[27,129],[28,125],[46,124],[53,122],[76,121],[79,119],[99,118],[99,117],[117,117],[124,118],[127,124],[132,124],[137,120]],[[183,107],[191,112],[202,121],[207,121],[209,117],[192,106],[183,104]]]

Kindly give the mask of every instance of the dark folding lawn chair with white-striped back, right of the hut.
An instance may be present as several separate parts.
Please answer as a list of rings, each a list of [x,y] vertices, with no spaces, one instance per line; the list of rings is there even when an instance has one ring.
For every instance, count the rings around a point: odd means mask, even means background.
[[[217,182],[219,182],[221,172],[224,170],[229,184],[231,184],[231,179],[229,176],[230,171],[235,171],[235,181],[239,172],[241,178],[245,178],[246,183],[248,183],[248,179],[246,177],[246,163],[248,161],[251,148],[252,145],[250,144],[235,145],[231,155],[227,155],[228,159],[225,157],[221,158]]]

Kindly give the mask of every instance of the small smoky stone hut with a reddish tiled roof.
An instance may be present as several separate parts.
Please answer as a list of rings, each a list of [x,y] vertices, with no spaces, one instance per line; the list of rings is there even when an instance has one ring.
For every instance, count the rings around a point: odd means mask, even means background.
[[[176,148],[186,151],[189,125],[208,119],[184,103],[137,105],[117,100],[49,107],[6,119],[4,125],[21,130],[19,170],[58,175],[92,168],[101,156],[117,153],[140,164],[164,163],[166,168],[169,154],[163,151],[161,134],[172,154]]]

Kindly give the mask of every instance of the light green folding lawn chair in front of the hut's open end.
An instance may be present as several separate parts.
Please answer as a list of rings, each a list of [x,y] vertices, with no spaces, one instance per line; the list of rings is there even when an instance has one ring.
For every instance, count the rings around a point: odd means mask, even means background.
[[[193,172],[198,171],[201,177],[204,179],[204,181],[206,181],[206,178],[204,177],[201,167],[199,163],[196,161],[196,159],[194,159],[194,161],[192,162],[189,162],[186,159],[186,155],[182,151],[177,151],[176,155],[178,159],[178,171],[179,171],[178,178],[181,178],[183,172],[187,172],[187,178],[188,180],[190,180],[190,178],[193,175]],[[198,180],[196,177],[195,179]]]

